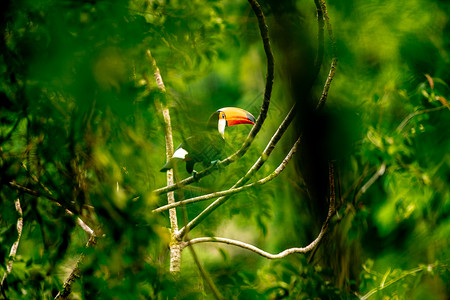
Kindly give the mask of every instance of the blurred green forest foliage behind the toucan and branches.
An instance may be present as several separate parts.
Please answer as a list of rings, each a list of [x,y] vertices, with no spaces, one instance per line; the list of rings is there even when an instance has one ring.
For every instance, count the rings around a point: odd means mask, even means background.
[[[184,197],[234,184],[293,103],[297,119],[256,178],[272,172],[303,133],[301,149],[279,177],[232,196],[189,236],[234,238],[271,253],[309,244],[328,209],[329,161],[336,165],[339,210],[308,255],[271,261],[218,243],[196,245],[220,293],[226,299],[448,299],[449,3],[328,1],[339,64],[320,113],[311,108],[332,52],[325,35],[316,78],[314,1],[260,4],[275,56],[267,120],[241,160]],[[23,0],[3,1],[0,11],[2,276],[17,239],[17,198],[24,217],[1,297],[55,297],[85,251],[72,299],[212,298],[189,251],[180,277],[168,271],[168,213],[151,212],[167,201],[151,193],[166,185],[155,101],[169,106],[175,145],[221,107],[257,116],[266,58],[250,5]],[[249,131],[227,129],[227,154]],[[180,168],[181,177],[188,175]],[[18,192],[12,181],[42,196]],[[85,250],[88,237],[45,197],[49,192],[101,232],[94,247]],[[188,206],[187,218],[210,201]],[[182,226],[187,220],[178,213]]]

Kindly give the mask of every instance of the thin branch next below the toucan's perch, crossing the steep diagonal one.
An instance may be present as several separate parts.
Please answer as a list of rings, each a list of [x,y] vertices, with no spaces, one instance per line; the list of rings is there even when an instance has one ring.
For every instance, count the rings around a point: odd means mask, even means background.
[[[237,187],[237,188],[230,188],[228,190],[225,191],[220,191],[220,192],[215,192],[215,193],[210,193],[207,195],[202,195],[202,196],[198,196],[198,197],[193,197],[190,199],[186,199],[186,200],[182,200],[182,201],[178,201],[172,204],[168,204],[168,205],[164,205],[161,207],[158,207],[156,209],[154,209],[152,212],[153,213],[157,213],[157,212],[162,212],[165,210],[168,210],[172,207],[177,207],[177,206],[181,206],[181,205],[186,205],[186,204],[190,204],[190,203],[195,203],[195,202],[199,202],[199,201],[205,201],[211,198],[217,198],[217,197],[221,197],[221,196],[229,196],[232,194],[237,194],[240,193],[246,189],[249,189],[253,186],[258,186],[258,185],[263,185],[266,184],[267,182],[271,181],[272,179],[274,179],[275,177],[277,177],[287,166],[287,164],[289,163],[289,161],[291,160],[292,156],[294,155],[294,153],[297,151],[297,147],[300,144],[300,138],[297,139],[297,141],[294,143],[294,145],[292,146],[291,150],[289,151],[289,153],[286,155],[286,157],[284,158],[284,160],[281,162],[281,164],[269,175],[267,175],[266,177],[241,186],[241,187]]]

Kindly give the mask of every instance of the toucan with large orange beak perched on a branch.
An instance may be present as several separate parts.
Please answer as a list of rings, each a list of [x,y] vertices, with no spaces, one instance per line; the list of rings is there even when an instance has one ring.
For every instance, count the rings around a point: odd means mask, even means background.
[[[174,167],[177,161],[186,162],[186,171],[194,173],[194,164],[203,163],[205,167],[218,161],[225,146],[225,128],[238,124],[255,125],[255,117],[248,111],[237,107],[224,107],[214,112],[208,119],[206,130],[188,137],[162,167],[165,172]],[[195,174],[194,174],[195,175]]]

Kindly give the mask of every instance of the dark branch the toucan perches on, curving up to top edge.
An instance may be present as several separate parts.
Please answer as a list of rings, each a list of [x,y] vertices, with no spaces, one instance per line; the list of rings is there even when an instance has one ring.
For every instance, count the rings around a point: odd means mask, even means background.
[[[266,20],[265,20],[263,11],[261,9],[261,6],[258,4],[258,2],[256,0],[248,0],[248,2],[250,3],[250,5],[258,19],[259,30],[260,30],[261,38],[263,41],[264,51],[265,51],[266,58],[267,58],[267,74],[266,74],[266,86],[264,88],[264,99],[263,99],[263,103],[261,105],[261,110],[259,112],[256,123],[253,126],[252,130],[250,130],[247,138],[245,139],[244,143],[242,144],[241,148],[238,151],[236,151],[229,157],[225,158],[224,160],[219,161],[215,166],[211,166],[201,172],[198,172],[195,175],[195,178],[194,178],[194,176],[190,176],[188,178],[185,178],[185,179],[177,182],[176,184],[168,184],[167,186],[165,186],[163,188],[154,190],[153,193],[155,193],[156,195],[168,193],[170,191],[179,189],[185,185],[196,182],[196,181],[200,180],[201,178],[203,178],[203,177],[211,174],[215,170],[217,170],[218,166],[224,167],[224,166],[227,166],[227,165],[231,164],[232,162],[236,161],[237,159],[242,157],[247,152],[247,150],[250,147],[251,143],[253,142],[254,138],[256,137],[258,132],[261,130],[261,127],[267,117],[267,112],[269,111],[270,98],[272,95],[273,78],[274,78],[274,58],[273,58],[273,53],[272,53],[272,49],[271,49],[270,41],[269,41],[269,31],[268,31],[268,27],[267,27]]]

